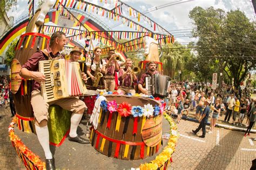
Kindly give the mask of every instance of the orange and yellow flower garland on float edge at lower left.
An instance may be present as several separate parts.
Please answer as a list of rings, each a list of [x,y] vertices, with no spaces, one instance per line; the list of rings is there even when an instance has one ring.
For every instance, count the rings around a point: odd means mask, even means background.
[[[19,152],[21,152],[26,157],[26,159],[32,162],[33,166],[37,167],[38,169],[45,169],[45,162],[42,162],[41,159],[35,153],[30,151],[30,149],[23,144],[21,139],[16,134],[14,134],[14,125],[16,123],[15,119],[16,117],[12,119],[10,126],[8,128],[9,137],[12,144],[17,147]],[[22,159],[22,161],[23,161],[23,164],[26,164],[24,162],[25,160]],[[30,167],[30,168],[33,168],[33,167]]]

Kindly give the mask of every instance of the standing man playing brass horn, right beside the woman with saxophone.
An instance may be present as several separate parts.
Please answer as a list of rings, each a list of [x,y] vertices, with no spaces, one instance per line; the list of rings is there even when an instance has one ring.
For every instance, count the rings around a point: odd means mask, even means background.
[[[114,91],[116,87],[115,73],[119,71],[119,64],[116,60],[116,53],[114,50],[109,50],[108,57],[105,59],[106,62],[106,74],[105,74],[105,88],[107,91]]]

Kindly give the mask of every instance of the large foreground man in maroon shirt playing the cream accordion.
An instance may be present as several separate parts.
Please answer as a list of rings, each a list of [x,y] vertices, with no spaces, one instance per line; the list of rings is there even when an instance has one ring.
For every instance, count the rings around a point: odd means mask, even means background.
[[[31,58],[22,66],[21,76],[25,79],[33,79],[33,91],[31,92],[31,105],[35,115],[35,127],[38,140],[44,149],[46,158],[46,169],[55,169],[55,161],[50,151],[49,146],[49,130],[48,130],[48,108],[50,105],[59,105],[65,110],[72,111],[71,126],[69,133],[69,140],[80,144],[89,144],[90,140],[83,139],[77,135],[77,127],[82,119],[85,104],[82,100],[76,97],[63,98],[50,103],[46,103],[41,93],[41,84],[45,81],[45,76],[38,71],[39,61],[49,59],[63,58],[60,51],[63,50],[66,44],[66,37],[64,32],[57,31],[52,34],[50,39],[50,46],[42,51],[35,52]],[[86,74],[82,73],[82,78],[86,81]]]

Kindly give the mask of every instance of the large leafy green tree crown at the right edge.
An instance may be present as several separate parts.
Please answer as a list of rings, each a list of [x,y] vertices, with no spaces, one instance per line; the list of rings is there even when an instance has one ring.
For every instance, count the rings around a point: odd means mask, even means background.
[[[255,65],[254,23],[239,10],[225,13],[213,7],[196,7],[190,11],[190,18],[195,25],[192,35],[198,38],[198,57],[203,60],[209,56],[208,63],[216,63],[218,71],[234,78],[238,87]]]

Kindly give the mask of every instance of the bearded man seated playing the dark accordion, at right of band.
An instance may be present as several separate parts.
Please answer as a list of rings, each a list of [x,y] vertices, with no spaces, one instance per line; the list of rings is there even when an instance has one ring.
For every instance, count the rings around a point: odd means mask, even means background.
[[[142,74],[142,77],[140,77],[138,89],[143,94],[149,94],[149,92],[146,89],[145,78],[153,76],[154,74],[158,73],[158,71],[156,71],[156,68],[157,68],[157,64],[155,62],[149,62],[147,72]]]

